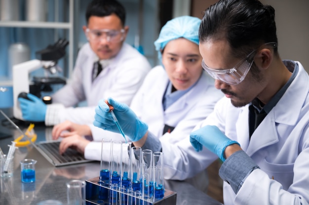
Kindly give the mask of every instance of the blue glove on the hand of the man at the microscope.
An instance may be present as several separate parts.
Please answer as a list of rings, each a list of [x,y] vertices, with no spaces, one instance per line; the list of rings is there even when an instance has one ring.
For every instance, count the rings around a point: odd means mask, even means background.
[[[46,104],[31,93],[28,93],[27,97],[30,101],[24,98],[18,98],[24,120],[44,122],[47,109]]]

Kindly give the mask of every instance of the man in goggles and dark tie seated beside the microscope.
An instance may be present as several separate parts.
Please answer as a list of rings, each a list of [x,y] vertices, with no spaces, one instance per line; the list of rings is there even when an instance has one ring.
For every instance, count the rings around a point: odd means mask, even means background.
[[[100,99],[113,97],[129,105],[151,69],[147,59],[124,42],[129,28],[118,1],[93,0],[85,16],[83,31],[89,42],[78,52],[71,81],[52,96],[50,105],[31,94],[30,100],[20,98],[25,120],[45,121],[45,125],[65,120],[92,123]],[[82,101],[87,107],[72,107]]]

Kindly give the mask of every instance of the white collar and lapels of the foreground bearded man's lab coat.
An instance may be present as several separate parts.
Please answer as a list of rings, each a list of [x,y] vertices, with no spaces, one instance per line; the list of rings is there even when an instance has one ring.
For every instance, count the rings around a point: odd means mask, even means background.
[[[299,62],[296,63],[299,66],[297,76],[295,77],[289,88],[286,90],[282,98],[270,110],[270,113],[265,117],[265,119],[254,131],[253,135],[251,136],[250,142],[249,137],[245,139],[242,138],[243,141],[239,141],[242,149],[244,149],[249,156],[252,156],[256,151],[262,149],[263,147],[278,142],[279,139],[277,136],[276,124],[293,126],[297,123],[299,119],[299,114],[302,109],[302,105],[304,104],[309,92],[309,76],[303,66]],[[286,108],[287,106],[289,107],[288,109]],[[241,120],[239,122],[244,122],[243,120],[245,117],[247,118],[246,122],[248,122],[248,106],[243,107],[243,109],[246,110],[242,110],[242,119],[240,118]],[[236,126],[241,125],[239,123],[236,123]],[[248,128],[248,126],[246,127]],[[237,131],[243,132],[241,131],[241,127],[238,127]],[[248,136],[248,129],[246,129],[246,132],[246,135]],[[242,133],[241,135],[244,135],[244,133]]]

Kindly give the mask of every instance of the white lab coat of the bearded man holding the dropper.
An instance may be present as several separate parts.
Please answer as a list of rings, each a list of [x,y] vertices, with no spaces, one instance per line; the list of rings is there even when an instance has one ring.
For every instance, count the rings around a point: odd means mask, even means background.
[[[308,205],[309,203],[309,76],[303,66],[279,102],[261,122],[249,141],[248,105],[236,108],[223,98],[208,118],[194,130],[207,124],[216,125],[261,168],[249,174],[237,195],[224,184],[225,205]],[[216,156],[204,148],[188,150],[189,137],[170,158],[177,166],[204,169]],[[188,152],[185,152],[185,150]],[[184,153],[181,155],[180,153]],[[192,169],[175,171],[170,178],[192,174]],[[193,171],[194,172],[194,171]],[[272,180],[272,177],[274,180]]]

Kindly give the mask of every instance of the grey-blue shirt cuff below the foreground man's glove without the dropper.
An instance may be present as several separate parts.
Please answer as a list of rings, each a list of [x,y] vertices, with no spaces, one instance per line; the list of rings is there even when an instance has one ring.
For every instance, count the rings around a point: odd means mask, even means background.
[[[255,169],[260,168],[243,150],[240,150],[225,160],[219,170],[219,175],[231,185],[232,190],[237,194],[248,175]]]

